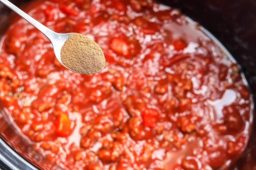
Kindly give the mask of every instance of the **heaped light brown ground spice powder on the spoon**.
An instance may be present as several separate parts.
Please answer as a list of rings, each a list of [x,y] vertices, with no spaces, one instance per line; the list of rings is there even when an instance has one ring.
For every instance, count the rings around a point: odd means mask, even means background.
[[[68,37],[60,50],[60,58],[65,67],[81,74],[95,74],[105,67],[105,57],[100,46],[79,33]]]

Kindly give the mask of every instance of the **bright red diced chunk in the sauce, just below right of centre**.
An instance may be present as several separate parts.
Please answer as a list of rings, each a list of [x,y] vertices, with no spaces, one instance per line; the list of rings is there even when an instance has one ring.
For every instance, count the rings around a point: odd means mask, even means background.
[[[156,127],[156,118],[159,115],[156,109],[146,109],[142,112],[143,125],[154,128]]]

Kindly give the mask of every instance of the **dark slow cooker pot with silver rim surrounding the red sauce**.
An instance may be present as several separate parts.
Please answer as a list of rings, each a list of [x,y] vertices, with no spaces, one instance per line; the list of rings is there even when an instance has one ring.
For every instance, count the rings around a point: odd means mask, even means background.
[[[11,1],[22,6],[28,1]],[[160,3],[179,9],[200,23],[213,34],[241,65],[256,102],[256,3],[252,0],[159,0]],[[0,3],[0,38],[7,26],[11,10]],[[0,112],[3,111],[0,108]],[[250,142],[243,156],[231,169],[256,168],[256,126],[253,126]],[[12,122],[5,122],[0,115],[0,168],[2,169],[59,169],[23,142]],[[26,157],[21,156],[26,155]]]

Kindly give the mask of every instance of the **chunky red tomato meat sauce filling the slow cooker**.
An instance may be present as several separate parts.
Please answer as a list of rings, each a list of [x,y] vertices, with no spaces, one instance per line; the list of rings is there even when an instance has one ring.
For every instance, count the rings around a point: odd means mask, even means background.
[[[0,101],[29,143],[72,170],[228,169],[250,136],[252,96],[238,66],[177,10],[146,0],[51,0],[29,15],[82,33],[106,67],[65,69],[16,18],[1,40]]]

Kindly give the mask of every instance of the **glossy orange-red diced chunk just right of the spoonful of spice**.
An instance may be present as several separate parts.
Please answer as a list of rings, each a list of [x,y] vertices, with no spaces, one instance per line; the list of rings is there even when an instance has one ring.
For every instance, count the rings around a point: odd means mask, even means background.
[[[129,54],[129,47],[127,43],[121,38],[114,38],[110,44],[110,48],[121,55]]]

